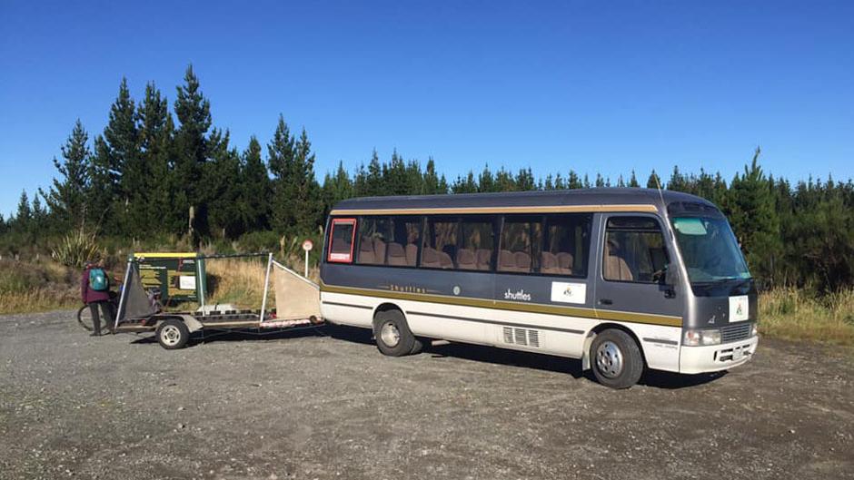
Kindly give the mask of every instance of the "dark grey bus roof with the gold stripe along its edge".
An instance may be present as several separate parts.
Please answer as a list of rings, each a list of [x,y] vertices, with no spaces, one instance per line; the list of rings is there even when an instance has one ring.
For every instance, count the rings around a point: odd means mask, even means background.
[[[332,215],[513,213],[558,211],[660,211],[661,196],[667,205],[710,201],[680,191],[655,189],[597,188],[560,191],[511,191],[501,193],[457,193],[361,197],[339,202]]]

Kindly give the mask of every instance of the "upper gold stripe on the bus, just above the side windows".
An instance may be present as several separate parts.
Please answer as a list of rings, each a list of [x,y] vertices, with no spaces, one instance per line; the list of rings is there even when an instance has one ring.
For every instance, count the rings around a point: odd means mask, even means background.
[[[656,212],[655,205],[543,205],[540,207],[448,207],[424,209],[339,209],[337,215],[453,215],[463,213],[578,213],[594,211]]]

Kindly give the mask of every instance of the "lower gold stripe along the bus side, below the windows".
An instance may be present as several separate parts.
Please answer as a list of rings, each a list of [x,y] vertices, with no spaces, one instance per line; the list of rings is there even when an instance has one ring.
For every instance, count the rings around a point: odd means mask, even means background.
[[[409,293],[381,289],[359,289],[354,287],[327,285],[323,282],[321,282],[321,291],[329,293],[360,295],[363,297],[382,297],[385,299],[401,299],[442,303],[446,305],[462,305],[464,307],[479,307],[482,309],[501,309],[531,313],[544,313],[549,315],[561,315],[564,317],[569,316],[604,320],[618,320],[632,323],[664,325],[668,327],[682,326],[682,318],[680,317],[672,317],[670,315],[655,315],[651,313],[634,313],[616,310],[586,309],[581,307],[559,307],[556,305],[545,305],[542,303],[518,303],[503,300],[473,299],[471,297],[452,297],[446,295]]]

